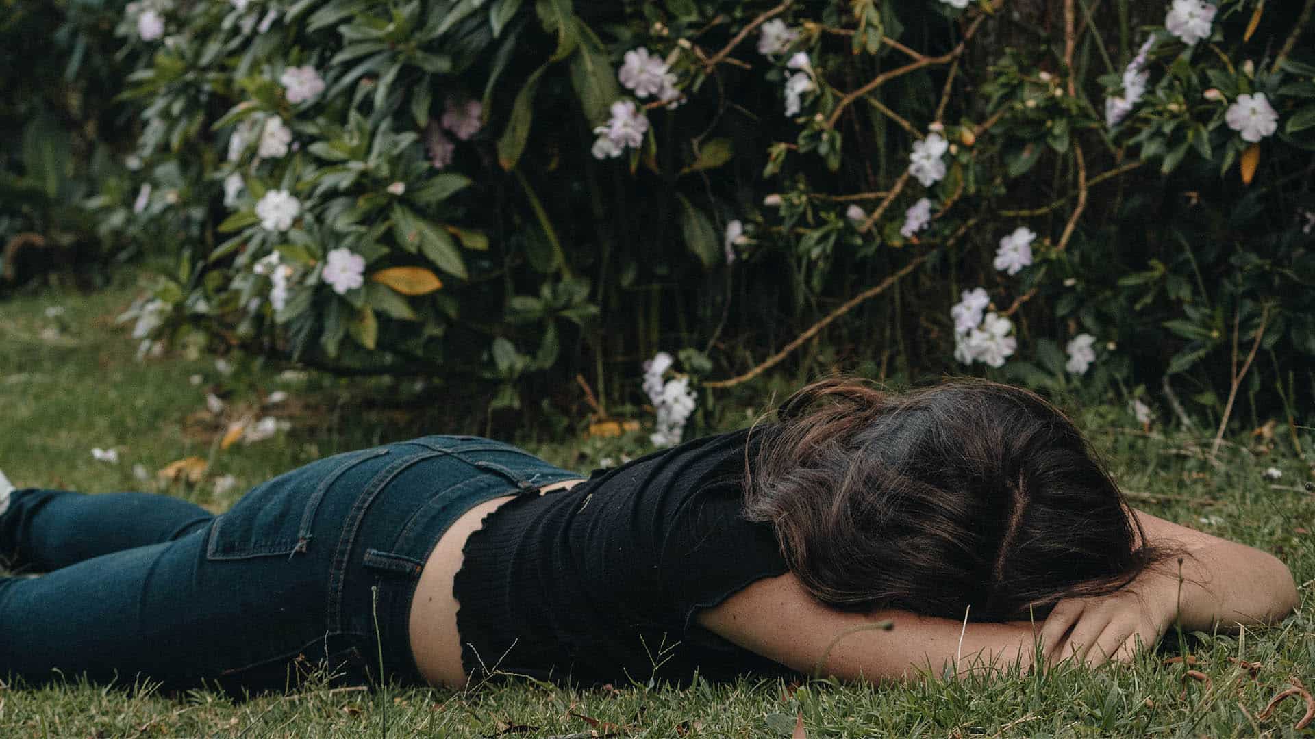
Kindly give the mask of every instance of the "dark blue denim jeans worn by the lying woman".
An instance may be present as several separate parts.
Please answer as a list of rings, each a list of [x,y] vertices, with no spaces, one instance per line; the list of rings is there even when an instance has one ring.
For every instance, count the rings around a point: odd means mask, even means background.
[[[238,693],[327,667],[335,682],[421,684],[410,600],[439,536],[480,502],[572,477],[500,442],[425,437],[293,469],[221,515],[147,493],[14,490],[0,676]]]

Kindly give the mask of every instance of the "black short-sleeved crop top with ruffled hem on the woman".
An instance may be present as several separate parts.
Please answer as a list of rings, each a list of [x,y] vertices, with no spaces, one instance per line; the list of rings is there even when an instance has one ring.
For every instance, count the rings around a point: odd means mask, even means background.
[[[492,513],[452,586],[467,673],[581,684],[788,673],[694,621],[788,569],[771,525],[743,517],[748,438],[696,439]]]

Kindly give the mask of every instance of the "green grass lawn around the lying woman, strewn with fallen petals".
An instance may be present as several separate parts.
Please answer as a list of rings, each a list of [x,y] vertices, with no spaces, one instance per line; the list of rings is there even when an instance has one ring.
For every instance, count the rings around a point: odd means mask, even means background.
[[[14,483],[171,492],[222,510],[251,484],[327,454],[423,433],[481,430],[469,427],[477,419],[444,414],[444,389],[433,385],[313,373],[289,381],[280,379],[283,367],[259,363],[225,376],[213,358],[188,358],[185,347],[138,360],[128,327],[113,323],[135,292],[133,276],[122,275],[91,296],[25,292],[0,302],[0,468]],[[47,316],[57,306],[63,313]],[[192,384],[195,375],[200,384]],[[263,402],[280,389],[287,401]],[[225,396],[220,414],[206,409],[206,392]],[[260,416],[289,421],[291,429],[221,448],[230,421]],[[680,690],[644,684],[572,690],[512,680],[466,693],[313,685],[234,702],[208,692],[163,696],[150,686],[9,688],[0,689],[0,735],[331,736],[381,735],[387,726],[394,736],[747,738],[790,736],[797,715],[809,736],[1311,735],[1293,728],[1304,710],[1299,698],[1258,718],[1291,679],[1315,685],[1315,497],[1303,485],[1310,468],[1282,439],[1273,450],[1228,446],[1215,468],[1190,452],[1191,439],[1118,426],[1124,417],[1101,408],[1081,416],[1134,504],[1278,555],[1302,584],[1295,617],[1243,636],[1170,638],[1160,654],[1132,665],[881,688],[818,681],[793,693],[777,681],[752,680],[696,681]],[[634,451],[635,441],[522,443],[588,469],[625,444]],[[92,447],[114,448],[118,464],[92,459]],[[188,456],[208,463],[200,483],[155,475]],[[137,465],[145,480],[134,475]],[[1282,471],[1278,481],[1261,475],[1272,465]],[[217,490],[214,480],[225,475],[237,485]],[[1164,664],[1181,648],[1208,681],[1187,677],[1187,665]],[[1251,675],[1230,657],[1262,667]]]

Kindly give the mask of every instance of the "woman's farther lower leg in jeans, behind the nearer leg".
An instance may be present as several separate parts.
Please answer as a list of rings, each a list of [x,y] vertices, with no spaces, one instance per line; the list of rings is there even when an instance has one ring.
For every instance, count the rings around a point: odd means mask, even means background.
[[[12,490],[0,512],[0,558],[16,572],[60,567],[160,542],[214,518],[184,500],[150,493]]]

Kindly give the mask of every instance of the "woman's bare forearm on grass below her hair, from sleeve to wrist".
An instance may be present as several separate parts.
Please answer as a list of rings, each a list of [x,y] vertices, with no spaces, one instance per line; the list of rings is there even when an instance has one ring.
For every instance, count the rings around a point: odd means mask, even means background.
[[[792,669],[842,680],[899,680],[928,669],[942,675],[949,665],[963,675],[1005,669],[1015,661],[1026,669],[1036,655],[1030,623],[968,622],[965,627],[961,621],[907,611],[844,613],[819,602],[792,573],[759,580],[700,611],[697,621]],[[877,626],[885,621],[889,630]]]

